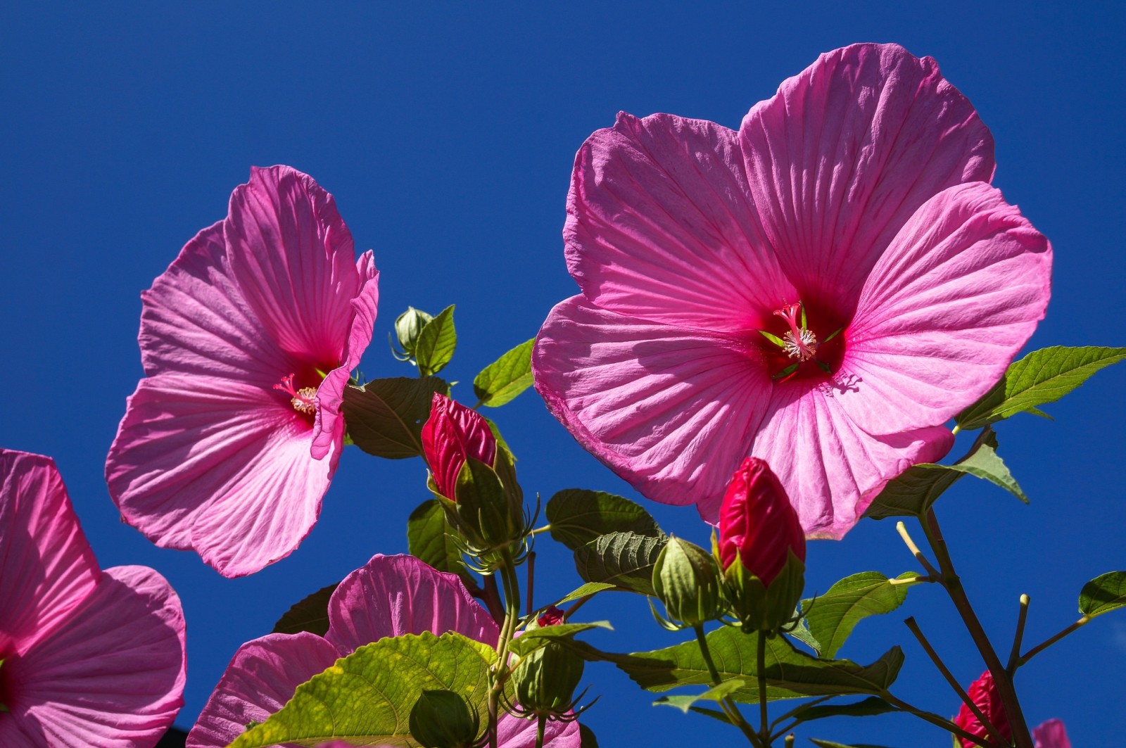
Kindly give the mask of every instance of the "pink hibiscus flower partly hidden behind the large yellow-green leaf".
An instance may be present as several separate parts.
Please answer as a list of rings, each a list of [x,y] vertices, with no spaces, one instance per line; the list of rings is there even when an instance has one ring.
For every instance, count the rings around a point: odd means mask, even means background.
[[[456,631],[497,644],[497,623],[456,575],[436,571],[410,555],[375,555],[348,575],[329,602],[329,631],[267,634],[239,648],[199,720],[188,748],[221,748],[282,709],[297,686],[356,648],[384,636]],[[499,745],[533,748],[536,723],[511,715],[498,723]],[[579,725],[549,722],[548,745],[579,748]]]

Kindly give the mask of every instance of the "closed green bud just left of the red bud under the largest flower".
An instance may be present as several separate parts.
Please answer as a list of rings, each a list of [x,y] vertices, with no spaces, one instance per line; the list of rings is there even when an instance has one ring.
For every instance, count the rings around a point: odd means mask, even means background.
[[[723,584],[715,559],[698,545],[670,537],[653,567],[653,591],[669,618],[696,626],[723,615]]]

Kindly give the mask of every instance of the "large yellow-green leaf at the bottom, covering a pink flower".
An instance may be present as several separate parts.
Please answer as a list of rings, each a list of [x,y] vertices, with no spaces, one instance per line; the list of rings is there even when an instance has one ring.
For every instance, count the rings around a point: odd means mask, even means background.
[[[484,714],[489,667],[495,658],[491,648],[455,632],[381,639],[297,686],[285,706],[242,733],[231,748],[316,746],[336,738],[414,745],[408,718],[419,694],[453,691]]]

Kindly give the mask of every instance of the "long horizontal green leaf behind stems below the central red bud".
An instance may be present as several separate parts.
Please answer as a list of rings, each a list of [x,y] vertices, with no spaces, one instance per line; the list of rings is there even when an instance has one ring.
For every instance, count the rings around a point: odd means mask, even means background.
[[[757,632],[743,633],[732,626],[722,626],[707,635],[720,680],[743,680],[740,688],[729,694],[739,702],[759,701],[756,671],[758,636]],[[572,642],[572,647],[589,659],[614,662],[634,683],[647,691],[663,692],[677,686],[712,685],[711,673],[695,640],[633,654],[599,652],[582,642]],[[899,647],[887,650],[867,666],[851,660],[817,659],[795,649],[785,636],[768,639],[766,649],[769,700],[849,694],[879,696],[887,692],[903,666],[903,651]]]

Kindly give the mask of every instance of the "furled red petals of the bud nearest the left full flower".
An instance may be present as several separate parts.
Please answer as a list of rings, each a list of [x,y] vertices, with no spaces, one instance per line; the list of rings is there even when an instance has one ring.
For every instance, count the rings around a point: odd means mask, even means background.
[[[430,465],[438,492],[455,500],[457,473],[467,457],[492,466],[497,437],[475,410],[435,393],[430,418],[422,425],[422,456]]]

